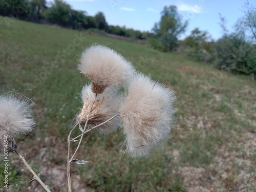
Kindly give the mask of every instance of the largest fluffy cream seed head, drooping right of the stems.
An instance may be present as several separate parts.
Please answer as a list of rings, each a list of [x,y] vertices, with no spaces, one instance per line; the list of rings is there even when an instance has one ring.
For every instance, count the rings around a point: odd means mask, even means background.
[[[134,76],[119,107],[126,152],[133,157],[147,156],[151,148],[169,136],[174,101],[174,91],[142,74]]]

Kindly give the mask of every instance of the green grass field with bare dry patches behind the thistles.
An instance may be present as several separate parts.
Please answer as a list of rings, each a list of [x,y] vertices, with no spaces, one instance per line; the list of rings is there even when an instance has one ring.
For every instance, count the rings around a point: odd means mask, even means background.
[[[38,129],[16,143],[52,191],[67,190],[66,140],[82,106],[76,64],[92,44],[115,49],[174,89],[177,117],[169,141],[149,158],[127,158],[124,148],[117,149],[122,130],[87,134],[77,158],[92,162],[72,164],[74,191],[256,191],[256,83],[249,77],[132,42],[20,20],[7,26],[5,19],[0,17],[0,90],[35,102]],[[15,154],[9,159],[6,191],[44,191],[29,182],[32,175]]]

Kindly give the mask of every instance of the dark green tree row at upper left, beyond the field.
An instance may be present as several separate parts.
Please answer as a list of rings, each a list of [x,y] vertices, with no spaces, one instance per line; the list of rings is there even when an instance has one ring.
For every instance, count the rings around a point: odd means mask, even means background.
[[[65,1],[59,0],[51,2],[49,6],[46,0],[0,0],[0,15],[72,29],[96,29],[96,32],[98,30],[135,39],[145,39],[153,35],[150,32],[108,25],[102,12],[90,16],[86,11],[74,10]]]

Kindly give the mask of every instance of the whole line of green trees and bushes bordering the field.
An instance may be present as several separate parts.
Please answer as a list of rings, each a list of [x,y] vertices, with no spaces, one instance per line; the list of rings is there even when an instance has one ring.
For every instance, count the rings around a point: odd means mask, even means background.
[[[160,21],[151,32],[109,25],[102,12],[90,16],[86,11],[72,9],[61,0],[49,5],[46,0],[0,0],[0,15],[140,39],[160,51],[177,51],[197,60],[214,63],[222,70],[251,74],[253,79],[256,74],[256,7],[248,1],[245,2],[244,16],[238,19],[233,32],[228,32],[225,18],[221,16],[223,34],[217,40],[199,28],[179,40],[187,30],[188,20],[183,19],[174,5],[163,8]]]

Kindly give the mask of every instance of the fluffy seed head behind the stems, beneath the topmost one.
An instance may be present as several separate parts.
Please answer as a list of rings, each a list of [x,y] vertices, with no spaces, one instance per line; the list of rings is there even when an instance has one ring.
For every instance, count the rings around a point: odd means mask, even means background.
[[[95,100],[95,93],[92,92],[91,84],[84,86],[81,92],[83,101],[83,108],[77,115],[77,122],[85,124],[88,114],[92,108],[93,101]],[[93,104],[92,112],[88,123],[91,125],[98,125],[111,117],[118,114],[118,104],[120,103],[120,95],[114,87],[107,87],[101,94],[97,94],[96,102]],[[119,116],[115,117],[108,123],[99,126],[100,132],[111,133],[115,131],[120,124]]]

